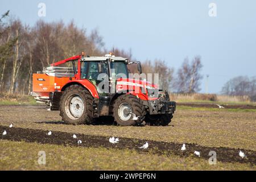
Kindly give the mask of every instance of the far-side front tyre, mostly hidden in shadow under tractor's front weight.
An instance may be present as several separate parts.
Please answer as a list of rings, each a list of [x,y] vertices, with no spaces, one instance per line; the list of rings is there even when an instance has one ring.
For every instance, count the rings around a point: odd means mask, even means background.
[[[145,122],[146,125],[150,126],[168,126],[172,117],[172,114],[147,114],[145,117]]]

